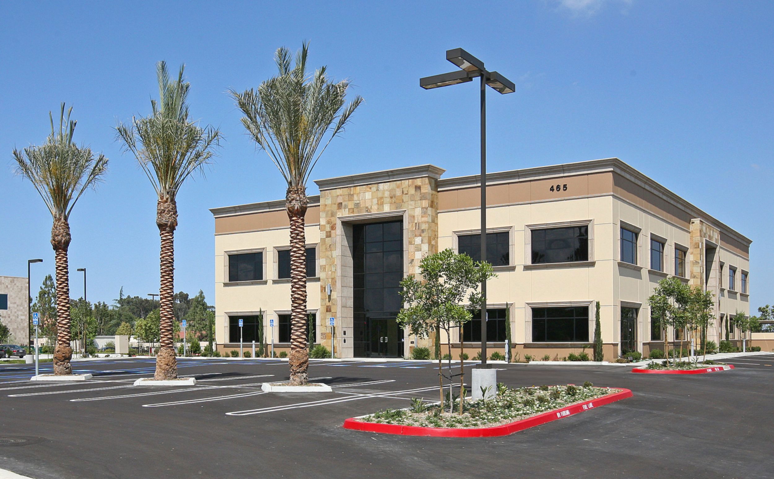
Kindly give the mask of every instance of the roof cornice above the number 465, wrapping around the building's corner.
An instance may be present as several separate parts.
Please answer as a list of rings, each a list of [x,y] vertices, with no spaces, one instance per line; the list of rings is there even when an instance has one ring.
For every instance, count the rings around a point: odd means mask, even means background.
[[[672,203],[673,205],[682,209],[683,212],[687,212],[691,218],[702,219],[704,222],[709,223],[711,226],[719,229],[722,234],[731,236],[731,238],[741,243],[745,243],[748,246],[752,243],[752,240],[750,240],[747,236],[744,236],[741,233],[738,233],[735,229],[732,229],[730,226],[721,223],[721,221],[718,221],[713,216],[708,215],[707,212],[704,212],[690,202],[687,202],[679,195],[676,195],[669,189],[666,189],[666,187],[663,185],[660,185],[656,181],[652,180],[652,178],[643,175],[641,172],[635,170],[635,168],[632,168],[630,165],[626,164],[624,161],[621,161],[618,158],[602,158],[599,160],[565,163],[563,165],[539,166],[536,168],[523,168],[520,170],[511,170],[508,172],[487,173],[486,179],[487,186],[491,186],[505,183],[533,181],[543,178],[556,178],[557,176],[587,175],[589,173],[601,172],[618,173],[618,175],[622,175],[622,177],[628,179],[636,185],[639,185],[643,189],[646,189],[646,191],[652,192],[653,194],[658,195],[661,199]],[[481,185],[480,179],[480,175],[444,178],[438,181],[438,191],[441,192],[444,190],[478,187]]]

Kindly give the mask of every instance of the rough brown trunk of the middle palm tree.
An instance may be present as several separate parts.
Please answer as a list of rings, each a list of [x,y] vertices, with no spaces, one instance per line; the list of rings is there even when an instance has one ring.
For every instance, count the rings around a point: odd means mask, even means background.
[[[159,199],[156,205],[156,226],[161,236],[161,281],[159,285],[159,354],[156,355],[154,379],[176,379],[173,299],[175,296],[175,228],[177,204],[173,199]]]

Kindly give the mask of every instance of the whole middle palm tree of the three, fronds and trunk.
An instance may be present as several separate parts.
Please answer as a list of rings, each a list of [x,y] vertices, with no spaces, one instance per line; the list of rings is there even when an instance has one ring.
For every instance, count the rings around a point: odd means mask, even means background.
[[[131,124],[119,124],[117,137],[132,151],[142,171],[158,196],[156,226],[161,236],[161,280],[159,307],[161,315],[159,354],[156,355],[156,379],[177,377],[173,338],[174,233],[177,226],[177,192],[194,172],[201,172],[220,146],[221,132],[202,128],[188,114],[188,90],[180,66],[176,80],[170,80],[166,63],[156,64],[159,80],[159,102],[151,100],[148,117],[132,117]]]

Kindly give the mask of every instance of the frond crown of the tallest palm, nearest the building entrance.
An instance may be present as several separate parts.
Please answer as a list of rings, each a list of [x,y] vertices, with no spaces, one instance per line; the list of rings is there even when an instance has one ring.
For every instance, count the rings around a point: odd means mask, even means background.
[[[289,187],[306,185],[320,155],[363,102],[358,96],[345,106],[349,81],[334,83],[324,66],[308,76],[308,53],[309,42],[303,42],[291,68],[289,50],[279,48],[277,76],[257,89],[229,90],[244,114],[241,122],[248,134],[266,151]]]

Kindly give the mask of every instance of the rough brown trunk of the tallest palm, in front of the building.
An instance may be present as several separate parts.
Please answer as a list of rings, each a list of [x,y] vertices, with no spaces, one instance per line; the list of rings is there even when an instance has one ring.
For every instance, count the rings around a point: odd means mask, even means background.
[[[290,385],[303,386],[309,379],[307,350],[307,215],[306,187],[291,186],[286,194],[290,220]]]

